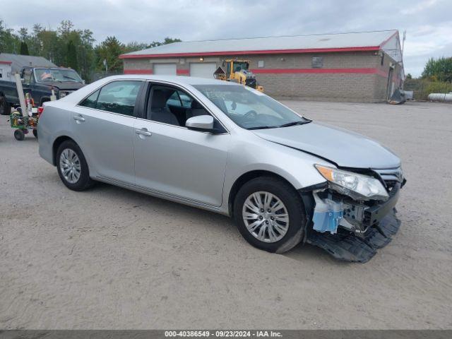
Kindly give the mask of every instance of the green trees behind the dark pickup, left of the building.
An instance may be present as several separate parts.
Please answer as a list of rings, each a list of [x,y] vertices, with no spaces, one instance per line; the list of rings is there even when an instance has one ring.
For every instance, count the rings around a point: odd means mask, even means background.
[[[109,73],[122,73],[120,54],[179,41],[166,37],[162,42],[124,44],[111,36],[95,44],[91,30],[76,29],[70,20],[61,21],[55,30],[37,23],[31,30],[23,27],[17,31],[6,28],[0,20],[0,53],[44,57],[58,66],[75,69],[88,82],[93,73],[105,71],[104,60],[107,61]]]

